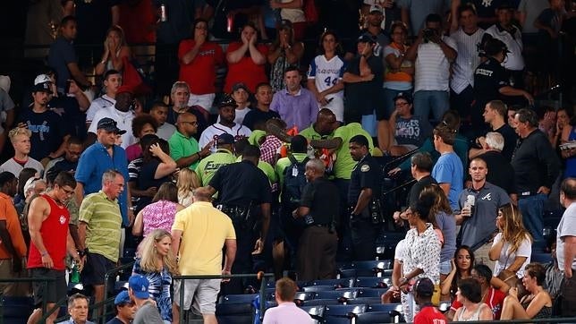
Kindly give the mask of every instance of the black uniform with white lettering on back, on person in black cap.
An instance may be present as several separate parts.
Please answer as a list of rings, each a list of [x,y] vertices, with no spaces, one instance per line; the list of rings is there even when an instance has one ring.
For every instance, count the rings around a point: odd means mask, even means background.
[[[474,106],[470,113],[472,127],[477,136],[484,136],[487,124],[484,123],[484,107],[489,101],[502,99],[500,88],[508,86],[508,75],[504,66],[496,58],[488,57],[487,61],[479,64],[474,71]]]

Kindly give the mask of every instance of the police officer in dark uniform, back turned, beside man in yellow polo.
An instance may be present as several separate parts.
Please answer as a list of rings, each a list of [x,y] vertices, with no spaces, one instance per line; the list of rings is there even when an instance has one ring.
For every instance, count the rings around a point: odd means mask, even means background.
[[[267,176],[258,169],[259,158],[258,147],[246,146],[241,162],[220,167],[208,184],[210,194],[218,192],[216,208],[232,218],[238,249],[232,273],[236,274],[254,272],[252,253],[262,252],[270,224],[272,193]],[[254,227],[259,220],[258,234]],[[223,286],[223,292],[242,294],[241,280],[231,280]]]

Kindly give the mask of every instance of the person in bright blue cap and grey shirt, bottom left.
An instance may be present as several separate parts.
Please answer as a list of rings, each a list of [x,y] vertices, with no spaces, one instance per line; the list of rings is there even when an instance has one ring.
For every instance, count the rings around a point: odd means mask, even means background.
[[[132,324],[164,323],[158,312],[157,305],[150,298],[148,279],[141,275],[132,275],[128,279],[128,294],[136,304],[136,314]]]

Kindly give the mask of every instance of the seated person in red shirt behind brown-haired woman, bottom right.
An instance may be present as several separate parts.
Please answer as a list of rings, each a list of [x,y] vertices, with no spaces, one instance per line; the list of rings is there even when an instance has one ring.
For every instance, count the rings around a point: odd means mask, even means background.
[[[499,280],[497,277],[492,277],[492,270],[488,268],[485,264],[477,264],[474,266],[472,271],[470,271],[471,277],[478,281],[480,287],[482,288],[482,301],[486,303],[492,310],[492,316],[494,320],[500,320],[500,313],[502,312],[502,303],[504,303],[504,298],[506,294],[502,291],[508,291],[510,287],[504,282],[501,283],[500,289],[496,289],[490,286],[491,280]],[[446,314],[446,318],[453,319],[456,310],[462,307],[462,303],[454,300],[450,306],[450,311]]]

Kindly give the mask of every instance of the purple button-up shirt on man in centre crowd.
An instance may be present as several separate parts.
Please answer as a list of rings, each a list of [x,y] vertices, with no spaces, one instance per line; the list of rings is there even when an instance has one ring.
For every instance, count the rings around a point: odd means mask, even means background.
[[[270,110],[277,112],[288,128],[296,125],[298,131],[301,131],[316,122],[318,102],[312,92],[304,88],[295,96],[284,89],[274,94]]]

